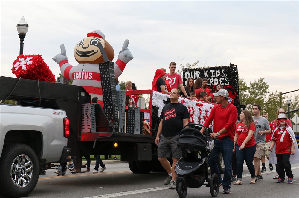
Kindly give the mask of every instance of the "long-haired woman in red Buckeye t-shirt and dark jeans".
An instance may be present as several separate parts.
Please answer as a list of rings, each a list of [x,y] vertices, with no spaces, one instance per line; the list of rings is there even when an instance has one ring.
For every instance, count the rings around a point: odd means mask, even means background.
[[[251,113],[248,110],[242,110],[240,114],[240,120],[241,122],[236,126],[236,133],[234,138],[235,141],[233,152],[236,152],[238,174],[238,181],[234,183],[234,185],[243,184],[242,174],[244,160],[246,161],[246,165],[251,174],[250,184],[255,184],[255,170],[252,163],[256,151],[255,139],[253,136],[255,125]]]

